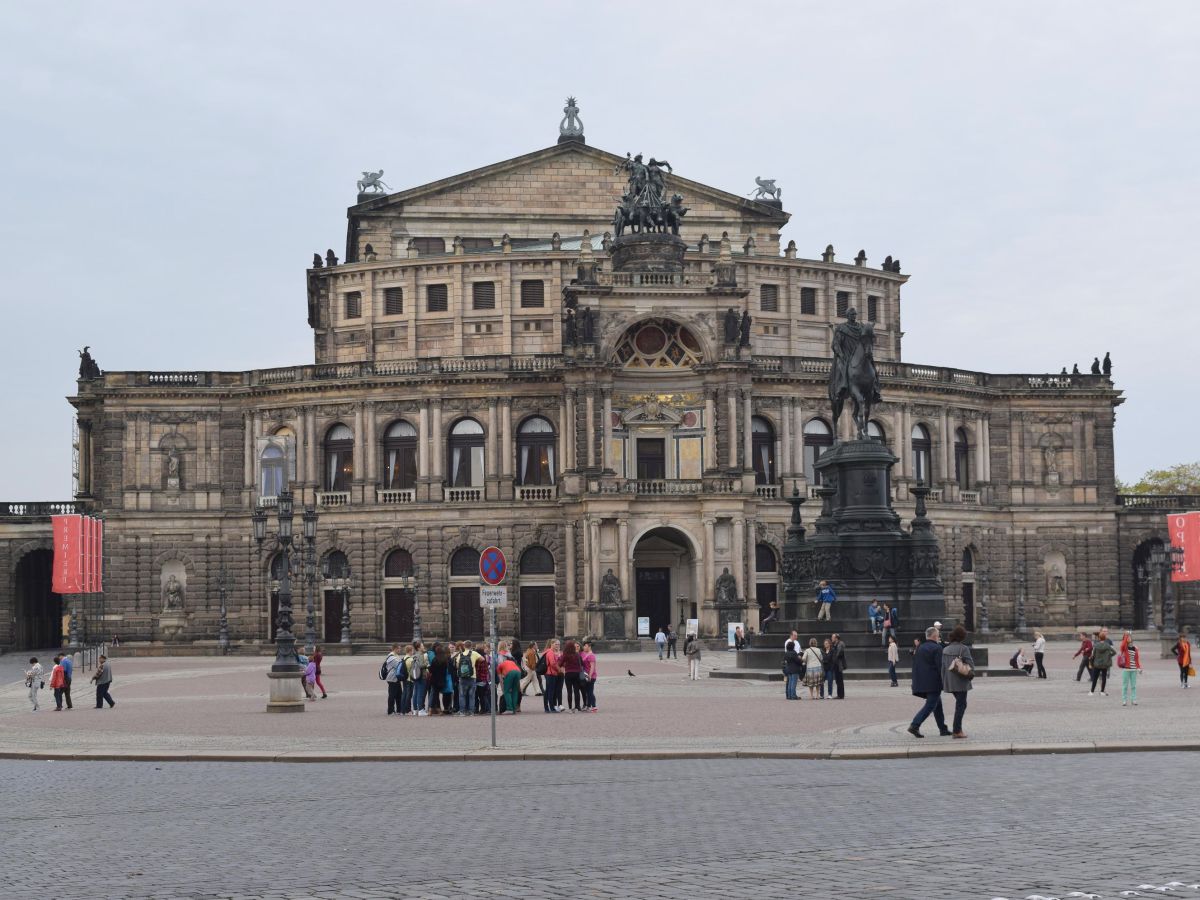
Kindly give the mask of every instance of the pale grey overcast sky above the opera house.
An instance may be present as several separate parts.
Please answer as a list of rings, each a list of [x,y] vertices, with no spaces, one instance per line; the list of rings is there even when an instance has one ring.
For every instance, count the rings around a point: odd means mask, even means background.
[[[1117,474],[1200,458],[1200,4],[6,4],[0,499],[71,490],[76,349],[306,362],[304,270],[392,190],[550,145],[778,179],[784,240],[896,256],[908,361],[1111,350]]]

